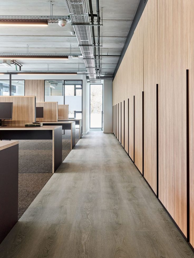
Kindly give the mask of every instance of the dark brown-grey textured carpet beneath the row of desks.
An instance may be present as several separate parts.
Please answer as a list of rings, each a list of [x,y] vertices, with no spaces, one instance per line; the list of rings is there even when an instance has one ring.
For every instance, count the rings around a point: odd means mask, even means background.
[[[76,140],[79,141],[79,129]],[[71,133],[62,136],[62,161],[71,151]],[[19,140],[18,219],[52,176],[52,140]]]

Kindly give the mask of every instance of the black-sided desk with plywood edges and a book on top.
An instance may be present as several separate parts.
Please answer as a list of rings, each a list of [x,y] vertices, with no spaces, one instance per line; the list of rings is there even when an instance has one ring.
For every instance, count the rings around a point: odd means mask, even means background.
[[[0,140],[52,140],[52,173],[62,163],[62,126],[0,127]]]

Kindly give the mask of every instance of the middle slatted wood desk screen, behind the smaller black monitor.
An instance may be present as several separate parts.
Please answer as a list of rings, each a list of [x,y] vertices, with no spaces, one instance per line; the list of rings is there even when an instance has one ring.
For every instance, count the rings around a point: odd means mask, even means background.
[[[37,118],[39,122],[58,121],[58,102],[36,102],[36,106],[44,108],[44,117]]]

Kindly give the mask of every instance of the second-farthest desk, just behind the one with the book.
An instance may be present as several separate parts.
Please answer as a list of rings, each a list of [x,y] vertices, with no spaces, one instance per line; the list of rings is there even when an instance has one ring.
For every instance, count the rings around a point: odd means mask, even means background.
[[[75,146],[75,121],[42,122],[43,125],[60,125],[62,130],[71,130],[71,149]]]

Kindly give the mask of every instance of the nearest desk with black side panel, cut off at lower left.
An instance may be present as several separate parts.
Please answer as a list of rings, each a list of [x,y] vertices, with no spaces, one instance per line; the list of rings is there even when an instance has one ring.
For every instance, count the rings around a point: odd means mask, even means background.
[[[18,141],[0,141],[0,243],[18,220]]]

